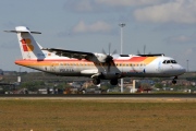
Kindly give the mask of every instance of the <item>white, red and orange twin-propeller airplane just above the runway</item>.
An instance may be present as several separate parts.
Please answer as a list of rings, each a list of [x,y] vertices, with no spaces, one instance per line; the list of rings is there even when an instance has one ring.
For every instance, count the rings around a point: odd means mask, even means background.
[[[15,60],[15,64],[56,75],[91,78],[95,85],[101,80],[118,85],[122,78],[173,78],[175,84],[177,76],[185,73],[182,66],[163,53],[112,55],[42,48],[32,35],[39,32],[30,32],[26,26],[4,32],[17,35],[22,59]]]

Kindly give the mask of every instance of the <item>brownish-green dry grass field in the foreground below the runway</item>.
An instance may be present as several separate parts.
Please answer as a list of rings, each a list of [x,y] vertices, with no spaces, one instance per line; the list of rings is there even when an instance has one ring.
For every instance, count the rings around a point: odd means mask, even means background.
[[[1,99],[1,131],[192,131],[195,102]]]

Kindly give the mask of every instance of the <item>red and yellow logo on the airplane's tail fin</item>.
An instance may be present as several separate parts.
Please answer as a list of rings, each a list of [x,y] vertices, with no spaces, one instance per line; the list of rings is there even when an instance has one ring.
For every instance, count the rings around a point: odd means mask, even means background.
[[[26,39],[21,39],[22,46],[23,46],[23,50],[24,51],[33,51],[34,50],[34,46],[32,45],[32,40],[26,38]]]

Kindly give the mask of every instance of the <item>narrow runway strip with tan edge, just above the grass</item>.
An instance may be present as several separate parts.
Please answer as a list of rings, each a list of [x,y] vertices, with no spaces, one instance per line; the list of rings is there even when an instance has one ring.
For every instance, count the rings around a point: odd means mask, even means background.
[[[196,102],[196,94],[1,94],[0,99],[132,99],[134,102]]]

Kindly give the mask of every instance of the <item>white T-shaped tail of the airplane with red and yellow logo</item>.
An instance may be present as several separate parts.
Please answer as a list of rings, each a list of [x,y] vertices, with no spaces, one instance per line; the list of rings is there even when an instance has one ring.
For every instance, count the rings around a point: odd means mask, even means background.
[[[28,27],[17,26],[15,31],[5,31],[16,33],[20,43],[23,59],[45,59],[46,50],[41,50],[41,46],[34,39],[32,34],[41,34],[39,32],[30,32]]]

